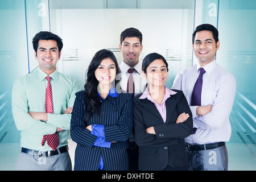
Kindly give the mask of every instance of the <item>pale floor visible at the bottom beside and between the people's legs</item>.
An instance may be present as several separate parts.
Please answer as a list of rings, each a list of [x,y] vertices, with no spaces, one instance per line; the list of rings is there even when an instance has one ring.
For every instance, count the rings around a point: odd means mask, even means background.
[[[229,171],[256,171],[256,145],[227,143]],[[76,143],[69,140],[69,154],[74,164]],[[0,143],[0,171],[14,171],[20,152],[19,143]]]

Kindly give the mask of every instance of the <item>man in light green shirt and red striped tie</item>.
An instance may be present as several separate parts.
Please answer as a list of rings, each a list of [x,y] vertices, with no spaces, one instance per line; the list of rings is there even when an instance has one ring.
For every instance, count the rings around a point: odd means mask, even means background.
[[[71,112],[79,84],[71,77],[57,72],[62,40],[51,32],[39,32],[33,39],[39,69],[18,78],[13,84],[12,109],[21,147],[18,170],[72,170],[68,154]],[[45,113],[47,76],[51,76],[53,114]],[[60,144],[53,151],[44,135],[59,135]]]

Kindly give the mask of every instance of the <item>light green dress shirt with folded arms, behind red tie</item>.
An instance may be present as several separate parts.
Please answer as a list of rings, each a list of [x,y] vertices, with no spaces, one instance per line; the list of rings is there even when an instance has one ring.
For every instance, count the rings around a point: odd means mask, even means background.
[[[47,80],[46,73],[41,69],[20,77],[14,81],[12,93],[13,117],[18,130],[21,131],[20,146],[38,151],[52,150],[47,142],[41,145],[43,135],[55,133],[57,127],[64,129],[58,132],[60,145],[68,144],[70,138],[71,114],[64,111],[73,106],[75,94],[80,87],[77,81],[57,71],[51,75],[53,113],[47,114],[48,121],[38,121],[32,118],[28,112],[44,112]]]

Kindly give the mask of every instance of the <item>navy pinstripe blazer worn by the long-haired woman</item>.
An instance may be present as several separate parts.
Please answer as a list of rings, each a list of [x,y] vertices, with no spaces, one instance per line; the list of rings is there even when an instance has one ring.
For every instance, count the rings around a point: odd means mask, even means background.
[[[100,99],[100,98],[99,98]],[[120,93],[118,97],[107,96],[101,105],[101,117],[94,113],[85,123],[86,113],[85,91],[76,93],[71,117],[71,138],[77,143],[74,170],[98,170],[100,158],[108,171],[128,170],[126,148],[133,127],[133,100],[131,94]],[[90,134],[86,126],[105,125],[106,142],[115,142],[110,148],[93,146],[97,137]]]

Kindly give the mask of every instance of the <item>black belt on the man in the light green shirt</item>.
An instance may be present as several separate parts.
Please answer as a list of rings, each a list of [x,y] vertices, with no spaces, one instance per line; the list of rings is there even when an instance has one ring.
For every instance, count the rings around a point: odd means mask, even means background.
[[[22,152],[26,153],[26,154],[30,154],[30,155],[38,155],[40,157],[49,157],[49,156],[53,156],[53,155],[58,155],[59,151],[60,154],[67,152],[68,151],[68,146],[63,146],[61,148],[56,149],[55,151],[51,150],[51,151],[47,151],[47,152],[43,152],[43,151],[36,151],[36,150],[31,150],[28,148],[23,148],[22,147]]]

